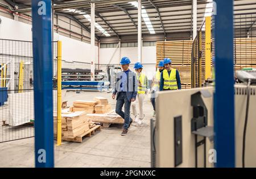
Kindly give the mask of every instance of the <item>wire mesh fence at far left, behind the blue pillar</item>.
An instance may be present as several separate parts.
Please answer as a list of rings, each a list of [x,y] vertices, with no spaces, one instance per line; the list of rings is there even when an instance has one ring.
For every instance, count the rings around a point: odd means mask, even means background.
[[[53,42],[53,76],[57,42]],[[31,41],[0,39],[0,143],[34,136],[34,77]],[[53,110],[56,111],[56,90]]]

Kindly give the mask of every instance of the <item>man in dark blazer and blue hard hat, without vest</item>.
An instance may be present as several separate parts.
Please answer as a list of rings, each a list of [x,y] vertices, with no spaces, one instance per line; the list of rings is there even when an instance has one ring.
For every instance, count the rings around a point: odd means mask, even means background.
[[[119,114],[125,123],[123,124],[122,136],[126,135],[128,129],[133,123],[133,119],[130,118],[131,102],[134,102],[137,96],[137,76],[136,73],[129,69],[130,59],[123,57],[121,59],[122,72],[117,74],[117,81],[115,82],[115,89],[112,94],[112,98],[115,99],[117,95],[117,104],[115,105],[115,113]],[[125,105],[125,111],[122,111],[122,107]]]

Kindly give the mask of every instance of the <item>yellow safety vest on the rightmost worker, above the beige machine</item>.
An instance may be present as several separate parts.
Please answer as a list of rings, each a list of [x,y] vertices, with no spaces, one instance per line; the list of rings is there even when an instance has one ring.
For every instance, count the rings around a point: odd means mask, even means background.
[[[170,76],[166,69],[163,70],[163,80],[164,80],[163,89],[176,90],[177,89],[176,69],[171,70]]]

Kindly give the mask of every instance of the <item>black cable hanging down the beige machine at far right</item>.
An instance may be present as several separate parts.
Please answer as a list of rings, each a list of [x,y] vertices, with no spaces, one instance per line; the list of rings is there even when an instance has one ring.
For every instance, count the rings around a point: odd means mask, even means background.
[[[250,85],[251,80],[248,80],[247,84],[247,102],[246,102],[246,112],[245,112],[245,126],[243,127],[243,147],[242,147],[242,167],[245,168],[245,140],[246,140],[246,128],[248,122],[248,111],[250,104]]]

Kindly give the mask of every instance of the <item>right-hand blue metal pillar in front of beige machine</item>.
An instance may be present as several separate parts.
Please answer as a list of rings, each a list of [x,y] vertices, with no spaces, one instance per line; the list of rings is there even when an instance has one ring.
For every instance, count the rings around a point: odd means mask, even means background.
[[[216,167],[235,167],[233,0],[216,0],[214,147]]]

